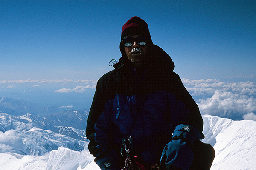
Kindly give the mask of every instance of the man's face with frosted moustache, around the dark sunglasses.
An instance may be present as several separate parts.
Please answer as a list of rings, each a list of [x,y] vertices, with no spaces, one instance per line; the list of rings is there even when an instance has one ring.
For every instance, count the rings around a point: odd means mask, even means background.
[[[139,35],[131,35],[129,37],[137,38]],[[125,46],[125,54],[128,59],[134,63],[140,63],[145,58],[145,53],[147,52],[148,44],[139,45],[137,42],[134,42],[131,47]]]

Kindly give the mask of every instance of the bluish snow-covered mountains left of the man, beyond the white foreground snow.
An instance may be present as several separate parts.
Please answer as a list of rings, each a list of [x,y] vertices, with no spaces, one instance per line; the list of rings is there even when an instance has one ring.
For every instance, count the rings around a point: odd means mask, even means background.
[[[76,151],[87,147],[84,130],[48,122],[44,117],[31,114],[11,116],[0,113],[0,153],[44,155],[59,147]]]

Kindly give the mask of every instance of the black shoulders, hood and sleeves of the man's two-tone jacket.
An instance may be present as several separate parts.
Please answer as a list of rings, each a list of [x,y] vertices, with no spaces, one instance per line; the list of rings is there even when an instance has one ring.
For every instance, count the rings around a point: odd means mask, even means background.
[[[121,57],[119,62],[114,65],[114,68],[113,71],[103,75],[97,82],[96,92],[87,121],[86,136],[90,140],[88,148],[90,153],[96,157],[96,160],[107,155],[109,150],[104,147],[99,147],[101,143],[95,141],[95,124],[102,112],[106,109],[105,104],[111,103],[112,105],[116,95],[134,95],[143,98],[148,94],[163,91],[167,92],[167,95],[172,95],[175,98],[175,101],[172,101],[172,105],[166,104],[166,111],[162,111],[164,113],[161,116],[163,116],[163,120],[169,128],[167,127],[168,130],[166,129],[165,133],[162,134],[161,132],[161,134],[157,134],[158,137],[160,137],[160,141],[163,141],[160,144],[161,148],[171,140],[171,133],[173,133],[173,130],[177,125],[190,125],[196,127],[200,133],[203,131],[203,120],[198,106],[183,86],[180,77],[173,72],[174,64],[172,59],[160,47],[152,45],[145,62],[145,68],[142,71],[135,71],[131,68],[125,57]],[[164,102],[168,103],[168,101]],[[182,105],[180,105],[180,103],[182,103]],[[158,105],[158,103],[155,103],[155,105]],[[182,110],[181,107],[183,107]],[[175,112],[175,109],[180,109],[181,111]],[[99,121],[104,121],[104,119]],[[101,122],[99,122],[99,124],[100,123]],[[118,129],[119,125],[116,126]],[[120,128],[121,127],[119,127],[119,130]],[[166,138],[166,133],[169,133],[170,137]],[[107,135],[109,136],[111,134]],[[123,135],[125,136],[125,134]],[[117,137],[115,136],[114,138]],[[116,141],[112,142],[112,144],[115,142]],[[111,144],[111,142],[109,142],[109,144]],[[119,145],[117,144],[113,146],[113,148],[118,154],[120,149]],[[160,158],[157,158],[156,161],[159,161],[158,159]]]

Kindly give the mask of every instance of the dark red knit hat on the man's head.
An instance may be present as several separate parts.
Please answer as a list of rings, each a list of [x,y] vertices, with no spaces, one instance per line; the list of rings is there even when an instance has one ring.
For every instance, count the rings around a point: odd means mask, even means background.
[[[148,24],[142,20],[140,17],[131,17],[123,26],[122,26],[122,35],[121,40],[130,35],[141,35],[148,38],[148,42],[152,43],[151,36],[148,29]]]

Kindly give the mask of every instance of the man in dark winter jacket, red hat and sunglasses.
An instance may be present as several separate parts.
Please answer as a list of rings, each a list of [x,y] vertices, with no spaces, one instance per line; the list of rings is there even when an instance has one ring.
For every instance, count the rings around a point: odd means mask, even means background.
[[[214,150],[203,144],[198,106],[154,45],[147,23],[122,27],[122,57],[98,83],[87,121],[89,150],[102,170],[207,170]]]

